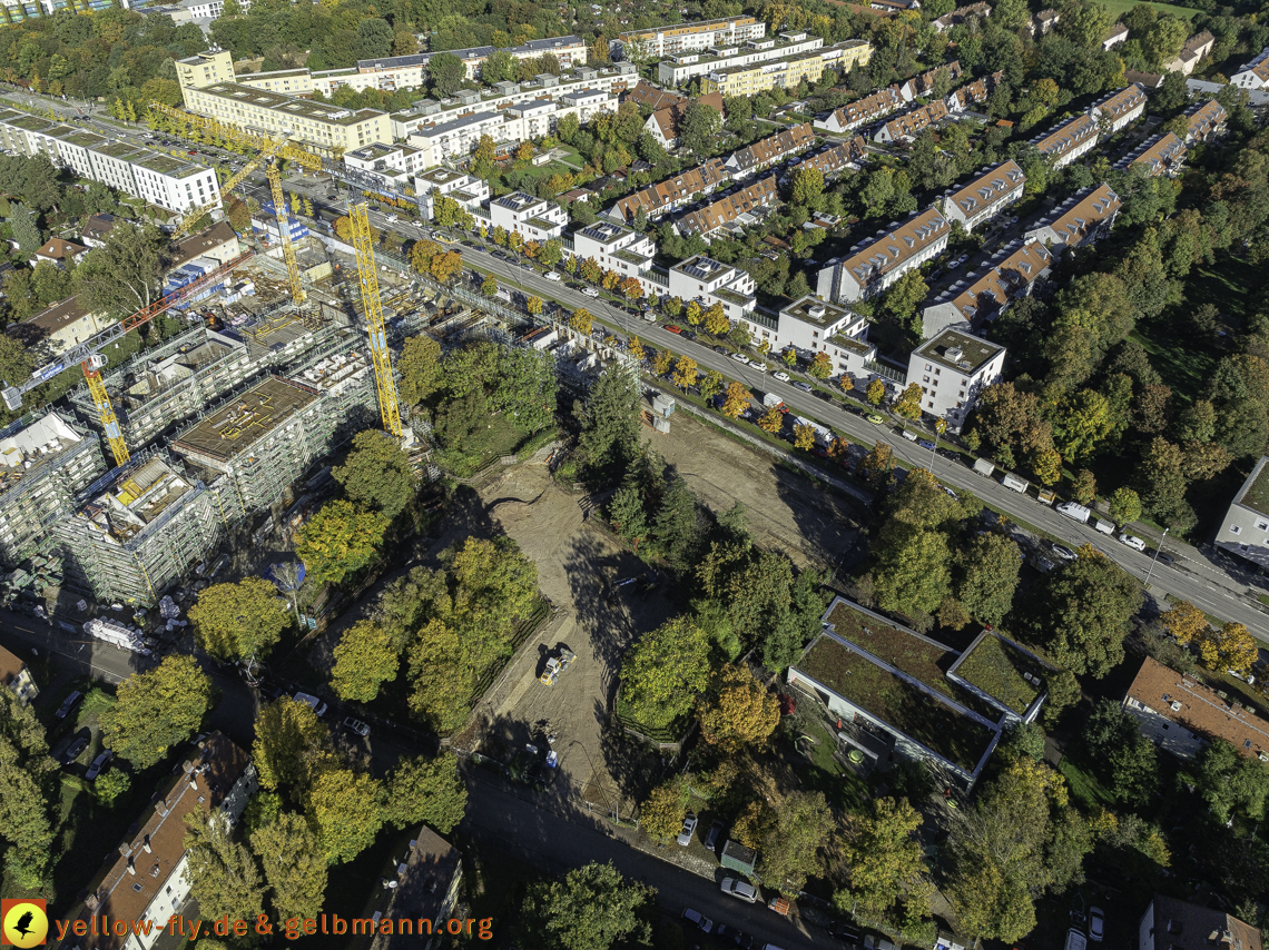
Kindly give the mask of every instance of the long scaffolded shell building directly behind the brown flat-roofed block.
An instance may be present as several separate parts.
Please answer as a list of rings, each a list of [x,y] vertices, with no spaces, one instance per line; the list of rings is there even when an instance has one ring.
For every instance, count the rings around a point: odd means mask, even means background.
[[[292,367],[330,344],[335,325],[293,309],[242,318],[222,331],[198,326],[145,350],[103,375],[121,431],[141,448],[203,412],[246,381]],[[80,416],[100,429],[86,386],[71,393]]]

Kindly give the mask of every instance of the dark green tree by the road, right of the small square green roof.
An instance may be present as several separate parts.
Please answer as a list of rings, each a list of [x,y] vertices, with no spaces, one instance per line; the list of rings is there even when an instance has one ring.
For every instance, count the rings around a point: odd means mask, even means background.
[[[1037,625],[1049,632],[1053,658],[1101,679],[1123,660],[1123,638],[1145,595],[1123,568],[1085,544],[1048,575]]]

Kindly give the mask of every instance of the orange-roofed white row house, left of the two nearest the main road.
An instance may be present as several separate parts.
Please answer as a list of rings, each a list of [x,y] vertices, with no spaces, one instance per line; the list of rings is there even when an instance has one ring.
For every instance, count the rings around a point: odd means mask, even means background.
[[[890,232],[855,245],[849,257],[829,261],[820,270],[816,293],[846,303],[873,297],[940,254],[949,233],[950,226],[938,209],[914,213],[901,224],[892,223]]]

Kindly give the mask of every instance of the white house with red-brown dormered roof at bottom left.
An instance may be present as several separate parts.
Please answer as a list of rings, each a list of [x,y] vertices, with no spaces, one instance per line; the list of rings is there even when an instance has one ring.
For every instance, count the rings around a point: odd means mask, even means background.
[[[247,799],[259,788],[250,756],[220,732],[199,741],[181,770],[154,805],[142,814],[145,824],[124,840],[96,889],[84,901],[80,921],[152,921],[146,934],[89,934],[75,937],[80,950],[151,950],[166,934],[168,920],[189,899],[189,855],[185,851],[187,817],[197,821],[237,822]],[[137,928],[140,930],[140,928]]]

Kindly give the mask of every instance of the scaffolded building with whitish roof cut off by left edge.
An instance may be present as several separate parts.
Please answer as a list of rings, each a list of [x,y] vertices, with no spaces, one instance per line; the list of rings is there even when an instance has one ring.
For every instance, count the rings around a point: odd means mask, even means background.
[[[0,430],[0,561],[30,557],[48,525],[75,511],[75,493],[105,471],[95,433],[58,412]]]

